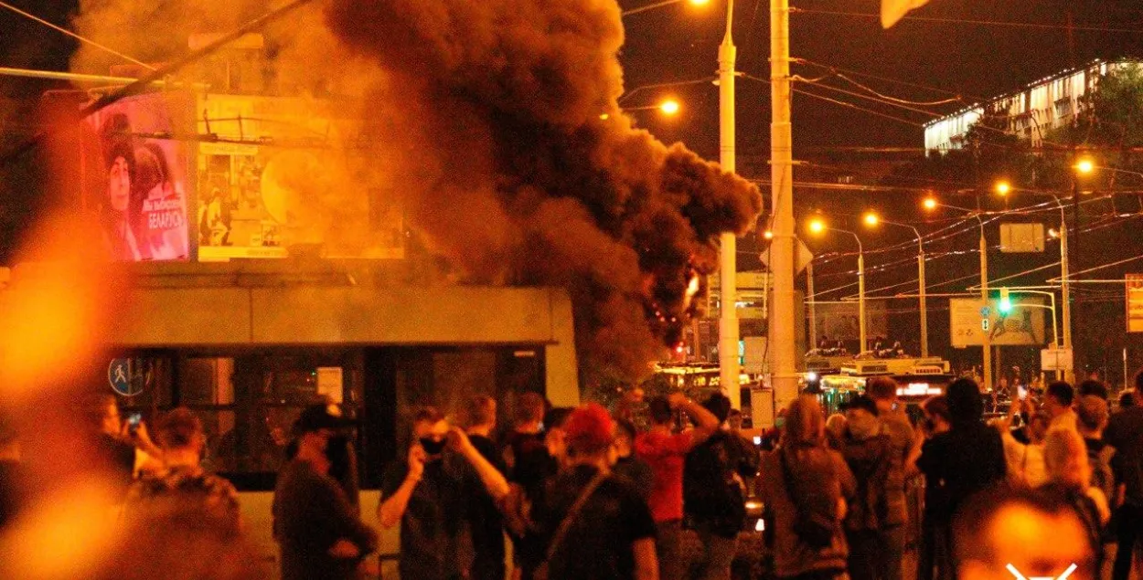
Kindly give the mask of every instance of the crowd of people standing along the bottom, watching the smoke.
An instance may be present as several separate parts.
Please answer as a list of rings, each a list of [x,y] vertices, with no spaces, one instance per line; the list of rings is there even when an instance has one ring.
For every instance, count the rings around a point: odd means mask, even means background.
[[[1143,373],[1136,382],[1143,388]],[[742,435],[721,394],[654,396],[613,417],[526,393],[505,428],[497,401],[478,396],[458,425],[431,406],[415,411],[376,521],[358,505],[353,421],[314,405],[296,420],[278,473],[280,573],[377,574],[368,556],[379,525],[400,530],[403,579],[729,579],[743,531],[756,530],[745,507],[753,496],[765,506],[768,570],[781,579],[901,580],[916,570],[918,580],[1126,580],[1140,573],[1143,542],[1134,393],[1110,413],[1103,384],[1053,382],[1038,404],[1032,393],[985,422],[986,397],[960,379],[925,401],[914,422],[897,385],[877,378],[836,416],[800,395],[773,446]],[[88,408],[87,422],[128,526],[158,522],[177,545],[230,547],[226,570],[251,574],[222,575],[208,562],[194,578],[257,578],[233,551],[243,535],[238,493],[200,464],[206,438],[191,411],[162,414],[153,441],[111,396]],[[18,440],[0,421],[0,529],[19,511],[7,493],[21,477]],[[916,510],[909,493],[920,477]],[[905,565],[914,548],[916,569]]]

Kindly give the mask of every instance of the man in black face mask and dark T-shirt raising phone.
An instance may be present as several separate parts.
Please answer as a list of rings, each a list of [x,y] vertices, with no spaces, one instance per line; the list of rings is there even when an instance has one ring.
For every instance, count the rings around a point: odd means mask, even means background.
[[[401,578],[471,578],[475,493],[501,501],[507,480],[434,408],[413,417],[406,460],[385,472],[377,517],[401,529]]]

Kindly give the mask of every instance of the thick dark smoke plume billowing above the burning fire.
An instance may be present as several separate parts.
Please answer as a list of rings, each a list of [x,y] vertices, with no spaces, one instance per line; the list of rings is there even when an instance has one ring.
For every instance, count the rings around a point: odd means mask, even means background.
[[[473,282],[567,288],[585,377],[645,376],[761,195],[620,111],[615,0],[334,0],[328,19],[384,71],[377,168],[431,248]]]

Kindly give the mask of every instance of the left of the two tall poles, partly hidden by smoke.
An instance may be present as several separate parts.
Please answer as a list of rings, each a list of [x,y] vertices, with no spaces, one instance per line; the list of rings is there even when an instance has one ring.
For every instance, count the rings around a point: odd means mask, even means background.
[[[726,37],[718,48],[719,80],[719,162],[722,170],[735,171],[735,134],[734,134],[734,62],[737,49],[730,37],[734,23],[734,0],[726,3]],[[719,381],[730,397],[734,409],[742,408],[742,394],[738,386],[738,313],[737,301],[738,241],[733,233],[720,236],[719,276],[721,282],[721,305],[719,307],[718,362]]]

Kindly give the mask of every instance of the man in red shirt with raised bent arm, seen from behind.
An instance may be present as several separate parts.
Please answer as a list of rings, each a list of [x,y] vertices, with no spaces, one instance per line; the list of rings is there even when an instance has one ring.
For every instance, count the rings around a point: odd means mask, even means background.
[[[694,420],[694,429],[673,433],[674,413],[682,410]],[[636,454],[650,465],[654,475],[647,504],[655,518],[656,551],[661,580],[682,577],[682,464],[695,445],[718,430],[718,419],[681,393],[657,396],[648,403],[652,428],[636,438]]]

